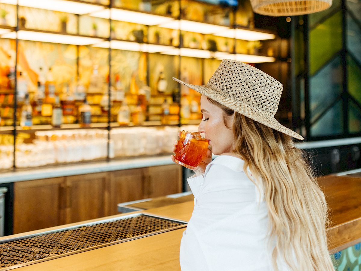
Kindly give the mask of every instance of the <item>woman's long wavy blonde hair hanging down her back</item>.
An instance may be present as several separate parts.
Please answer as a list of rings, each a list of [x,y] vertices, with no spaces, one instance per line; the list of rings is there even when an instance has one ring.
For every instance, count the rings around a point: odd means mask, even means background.
[[[225,116],[233,114],[231,109],[208,100],[223,109]],[[304,152],[295,147],[290,136],[237,112],[232,129],[233,152],[245,161],[245,174],[250,177],[248,167],[258,181],[255,185],[264,192],[270,246],[275,242],[274,269],[278,270],[277,259],[283,259],[294,271],[334,270],[327,248],[325,195]]]

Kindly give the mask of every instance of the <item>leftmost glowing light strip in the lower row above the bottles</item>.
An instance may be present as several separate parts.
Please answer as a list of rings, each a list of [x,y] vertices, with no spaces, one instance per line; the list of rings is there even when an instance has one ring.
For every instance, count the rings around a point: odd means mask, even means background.
[[[103,41],[100,38],[88,38],[82,36],[71,36],[53,33],[42,33],[35,31],[19,30],[17,32],[18,39],[20,40],[33,40],[36,42],[51,42],[61,44],[73,44],[73,45],[89,45]],[[16,32],[5,33],[1,35],[1,38],[16,39]]]

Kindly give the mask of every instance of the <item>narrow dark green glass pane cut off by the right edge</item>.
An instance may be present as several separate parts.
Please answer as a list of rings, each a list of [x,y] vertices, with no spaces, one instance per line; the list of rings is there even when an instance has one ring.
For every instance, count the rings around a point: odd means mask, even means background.
[[[347,57],[348,92],[361,103],[361,69],[351,57]]]

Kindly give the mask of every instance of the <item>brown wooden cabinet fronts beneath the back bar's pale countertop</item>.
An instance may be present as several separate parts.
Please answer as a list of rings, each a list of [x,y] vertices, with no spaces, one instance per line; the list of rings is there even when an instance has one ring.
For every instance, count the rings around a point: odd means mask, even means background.
[[[13,233],[117,214],[117,204],[182,192],[179,165],[14,183]]]

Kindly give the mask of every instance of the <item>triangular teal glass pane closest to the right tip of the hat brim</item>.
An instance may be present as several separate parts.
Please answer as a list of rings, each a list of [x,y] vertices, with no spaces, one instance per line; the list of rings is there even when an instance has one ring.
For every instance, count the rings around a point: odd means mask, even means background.
[[[336,136],[344,133],[343,129],[343,105],[339,100],[335,106],[325,113],[316,123],[311,126],[312,137]]]

